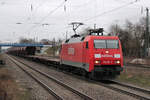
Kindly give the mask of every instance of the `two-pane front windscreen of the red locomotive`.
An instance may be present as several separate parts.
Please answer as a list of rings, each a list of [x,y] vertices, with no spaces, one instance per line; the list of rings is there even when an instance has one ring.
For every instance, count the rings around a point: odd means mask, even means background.
[[[119,48],[118,40],[94,40],[95,48],[109,48],[109,49],[117,49]]]

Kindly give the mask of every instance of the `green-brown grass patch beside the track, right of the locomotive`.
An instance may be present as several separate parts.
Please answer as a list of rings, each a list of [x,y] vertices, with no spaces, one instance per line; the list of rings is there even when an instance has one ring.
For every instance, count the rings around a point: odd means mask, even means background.
[[[137,74],[139,73],[139,74]],[[140,87],[149,88],[150,89],[150,75],[144,75],[144,73],[136,72],[130,73],[130,72],[123,72],[117,80],[134,84]]]

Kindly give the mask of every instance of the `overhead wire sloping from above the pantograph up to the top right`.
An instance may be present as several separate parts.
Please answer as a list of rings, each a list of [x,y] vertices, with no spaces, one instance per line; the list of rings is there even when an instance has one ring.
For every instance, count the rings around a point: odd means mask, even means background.
[[[108,13],[112,13],[112,12],[114,12],[114,11],[120,10],[121,8],[124,8],[124,7],[127,7],[127,6],[129,6],[129,5],[132,5],[132,4],[136,3],[136,2],[137,2],[137,0],[132,1],[132,2],[130,2],[130,3],[127,3],[127,4],[125,4],[125,5],[119,6],[119,7],[117,7],[117,8],[114,8],[114,9],[111,9],[111,10],[108,10],[108,11],[105,11],[105,12],[100,13],[100,14],[94,16],[94,17],[85,19],[85,21],[92,20],[93,18],[96,18],[96,17],[99,17],[99,16],[103,16],[103,15],[108,14]]]

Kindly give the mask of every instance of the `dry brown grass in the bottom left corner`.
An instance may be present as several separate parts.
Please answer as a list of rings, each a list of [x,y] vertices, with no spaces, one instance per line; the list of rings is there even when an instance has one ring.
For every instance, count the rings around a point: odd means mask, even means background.
[[[0,55],[0,59],[2,55]],[[12,72],[6,65],[0,65],[0,98],[6,94],[6,100],[31,100],[31,93],[28,89],[20,86],[12,77]]]

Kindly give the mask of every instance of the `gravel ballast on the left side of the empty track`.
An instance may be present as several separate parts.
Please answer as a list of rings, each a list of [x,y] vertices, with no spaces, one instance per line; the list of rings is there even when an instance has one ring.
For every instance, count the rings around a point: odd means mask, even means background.
[[[16,82],[30,90],[32,100],[55,100],[43,87],[41,87],[35,80],[28,76],[24,71],[17,67],[12,61],[7,59],[8,69],[12,71],[12,76]]]

